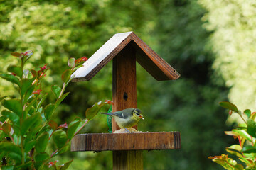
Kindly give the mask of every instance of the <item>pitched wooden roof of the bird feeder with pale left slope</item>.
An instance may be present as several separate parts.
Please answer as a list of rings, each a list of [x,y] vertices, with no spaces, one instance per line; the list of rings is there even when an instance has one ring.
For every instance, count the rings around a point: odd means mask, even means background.
[[[180,74],[154,52],[133,32],[115,34],[95,54],[93,54],[84,67],[74,72],[73,81],[88,81],[110,62],[127,45],[133,45],[136,51],[136,60],[158,81],[175,80]],[[168,55],[168,54],[166,54]]]

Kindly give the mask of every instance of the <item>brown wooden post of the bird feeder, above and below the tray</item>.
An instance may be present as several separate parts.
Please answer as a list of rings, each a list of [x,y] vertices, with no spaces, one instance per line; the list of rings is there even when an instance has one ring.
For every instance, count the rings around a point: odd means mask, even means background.
[[[113,112],[137,108],[136,51],[127,45],[113,59]],[[137,129],[137,126],[134,128]],[[112,132],[119,130],[112,120]],[[113,151],[113,169],[143,169],[142,150]]]

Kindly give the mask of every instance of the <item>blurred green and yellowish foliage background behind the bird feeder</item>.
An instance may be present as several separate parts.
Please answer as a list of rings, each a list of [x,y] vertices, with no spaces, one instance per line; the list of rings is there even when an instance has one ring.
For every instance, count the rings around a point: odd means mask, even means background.
[[[26,67],[48,63],[43,86],[50,92],[61,85],[68,58],[90,57],[115,33],[132,30],[181,74],[177,81],[156,81],[137,65],[137,106],[145,117],[139,130],[176,130],[182,143],[181,150],[144,151],[144,169],[222,169],[208,156],[232,144],[223,131],[234,121],[218,102],[256,108],[255,26],[254,0],[0,0],[0,72],[17,62],[10,52],[34,50]],[[67,91],[58,123],[85,118],[93,103],[112,99],[112,63]],[[0,95],[10,94],[16,96],[1,79]],[[106,117],[97,115],[83,132],[107,132]],[[74,159],[70,169],[112,169],[111,152],[57,159]]]

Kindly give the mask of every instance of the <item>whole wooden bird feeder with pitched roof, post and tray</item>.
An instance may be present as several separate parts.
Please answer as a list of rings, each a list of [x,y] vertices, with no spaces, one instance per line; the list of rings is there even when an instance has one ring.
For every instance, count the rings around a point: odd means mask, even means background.
[[[136,61],[157,81],[180,75],[133,32],[115,34],[74,74],[89,81],[113,60],[113,112],[137,108]],[[137,125],[134,127],[137,129]],[[119,130],[112,119],[112,132]],[[71,151],[113,151],[113,169],[143,169],[142,150],[181,149],[180,132],[95,133],[73,137]]]

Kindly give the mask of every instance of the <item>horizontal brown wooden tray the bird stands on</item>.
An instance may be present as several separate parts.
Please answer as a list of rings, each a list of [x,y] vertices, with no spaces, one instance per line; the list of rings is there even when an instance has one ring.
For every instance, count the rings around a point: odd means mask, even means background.
[[[71,151],[162,149],[181,149],[180,132],[89,133],[71,141]]]

